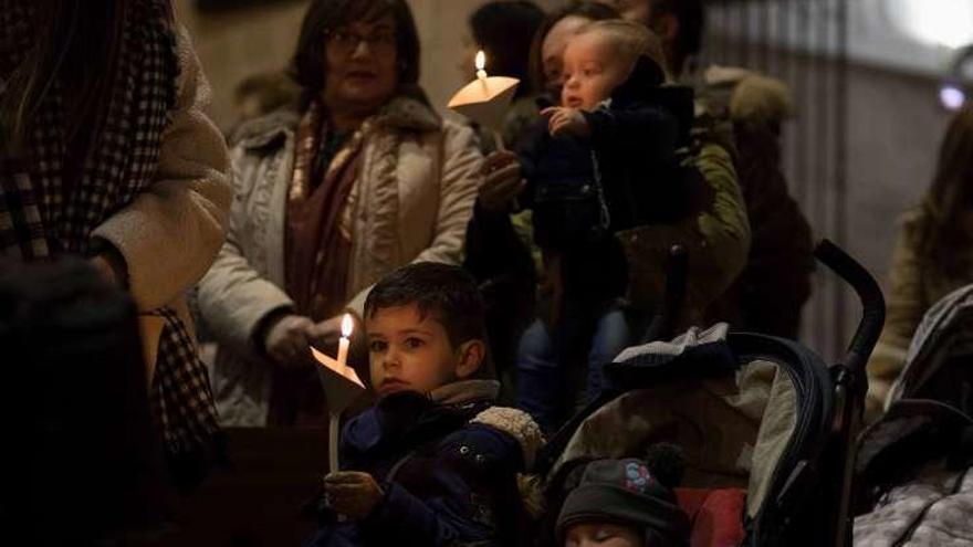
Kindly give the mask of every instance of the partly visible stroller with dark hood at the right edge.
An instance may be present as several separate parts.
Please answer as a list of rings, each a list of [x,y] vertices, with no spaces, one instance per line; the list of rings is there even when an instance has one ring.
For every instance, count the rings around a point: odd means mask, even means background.
[[[973,544],[973,286],[925,314],[856,462],[855,545]]]

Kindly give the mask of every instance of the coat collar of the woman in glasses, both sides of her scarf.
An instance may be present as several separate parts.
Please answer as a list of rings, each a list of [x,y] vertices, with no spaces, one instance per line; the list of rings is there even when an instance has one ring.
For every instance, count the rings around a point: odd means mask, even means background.
[[[233,145],[257,149],[282,141],[294,134],[301,115],[284,108],[240,126],[230,138]],[[435,132],[442,128],[442,118],[429,106],[421,90],[405,90],[393,97],[375,116],[366,120],[370,127]]]

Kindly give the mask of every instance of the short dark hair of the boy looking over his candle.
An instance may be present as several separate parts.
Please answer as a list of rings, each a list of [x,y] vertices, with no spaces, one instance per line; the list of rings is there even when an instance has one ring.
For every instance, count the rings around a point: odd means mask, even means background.
[[[473,276],[459,266],[418,262],[384,277],[365,299],[365,318],[387,307],[415,304],[446,328],[449,343],[459,347],[485,339],[483,298]]]

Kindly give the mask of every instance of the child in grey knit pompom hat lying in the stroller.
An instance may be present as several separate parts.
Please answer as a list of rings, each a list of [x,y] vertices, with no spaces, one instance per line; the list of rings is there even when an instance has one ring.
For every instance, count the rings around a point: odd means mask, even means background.
[[[557,517],[557,538],[564,547],[686,547],[689,517],[679,507],[672,487],[681,469],[667,473],[653,465],[681,456],[671,445],[656,450],[659,459],[596,460]],[[681,467],[681,462],[678,464]],[[650,467],[656,469],[652,472]],[[667,476],[668,475],[668,476]]]

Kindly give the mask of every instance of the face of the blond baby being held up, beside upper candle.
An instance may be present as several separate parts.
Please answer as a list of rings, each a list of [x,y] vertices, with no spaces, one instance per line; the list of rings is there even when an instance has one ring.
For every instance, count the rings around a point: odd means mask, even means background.
[[[611,42],[594,32],[574,36],[564,50],[561,105],[593,111],[628,75],[629,64]]]

